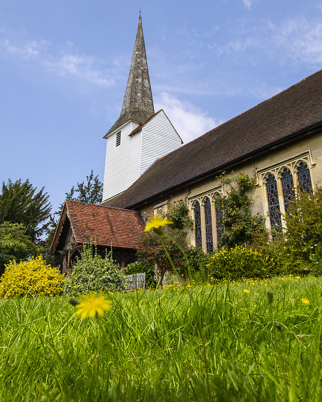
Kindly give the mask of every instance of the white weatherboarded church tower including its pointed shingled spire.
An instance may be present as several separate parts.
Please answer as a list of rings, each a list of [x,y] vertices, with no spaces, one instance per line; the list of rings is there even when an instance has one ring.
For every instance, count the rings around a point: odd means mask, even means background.
[[[163,110],[154,113],[141,16],[120,117],[107,139],[103,202],[134,183],[182,140]]]

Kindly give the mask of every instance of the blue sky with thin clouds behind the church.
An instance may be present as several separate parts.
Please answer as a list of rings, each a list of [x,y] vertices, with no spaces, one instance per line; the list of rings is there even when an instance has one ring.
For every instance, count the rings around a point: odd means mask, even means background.
[[[322,1],[2,0],[0,180],[29,180],[53,210],[103,181],[141,8],[155,110],[184,142],[322,68]]]

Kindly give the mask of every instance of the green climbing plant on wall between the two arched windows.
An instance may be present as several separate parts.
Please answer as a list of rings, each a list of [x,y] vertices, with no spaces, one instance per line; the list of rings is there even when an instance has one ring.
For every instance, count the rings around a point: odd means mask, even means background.
[[[253,216],[250,205],[252,198],[247,192],[256,185],[254,178],[245,173],[236,176],[223,176],[221,183],[229,185],[227,195],[218,196],[218,203],[223,211],[222,223],[224,233],[220,240],[220,247],[232,248],[236,245],[252,243],[258,236],[266,236],[267,231],[262,225],[264,218]]]

